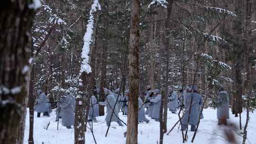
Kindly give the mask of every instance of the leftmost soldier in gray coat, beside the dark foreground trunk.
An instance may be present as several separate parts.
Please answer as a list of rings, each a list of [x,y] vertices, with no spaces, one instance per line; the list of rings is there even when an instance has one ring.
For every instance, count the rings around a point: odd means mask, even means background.
[[[37,117],[40,117],[41,113],[45,113],[47,117],[49,115],[49,106],[46,103],[46,94],[42,90],[37,90],[37,94],[39,95],[39,99],[37,99],[37,106],[35,107],[35,111],[37,112]]]

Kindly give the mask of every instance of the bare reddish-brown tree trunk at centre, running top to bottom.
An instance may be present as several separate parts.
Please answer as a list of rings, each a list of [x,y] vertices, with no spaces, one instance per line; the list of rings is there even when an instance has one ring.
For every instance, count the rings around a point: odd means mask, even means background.
[[[132,0],[129,38],[129,105],[126,144],[137,144],[140,0]]]

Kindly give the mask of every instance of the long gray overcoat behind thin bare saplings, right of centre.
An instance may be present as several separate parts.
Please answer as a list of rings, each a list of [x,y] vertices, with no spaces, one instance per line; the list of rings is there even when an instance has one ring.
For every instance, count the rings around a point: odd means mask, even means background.
[[[191,99],[192,99],[192,106],[191,106],[190,119],[188,123]],[[185,109],[185,115],[182,119],[182,124],[197,125],[197,122],[199,119],[199,107],[202,105],[202,97],[199,93],[196,93],[196,92],[187,93],[185,101],[186,101],[185,103],[186,109]]]

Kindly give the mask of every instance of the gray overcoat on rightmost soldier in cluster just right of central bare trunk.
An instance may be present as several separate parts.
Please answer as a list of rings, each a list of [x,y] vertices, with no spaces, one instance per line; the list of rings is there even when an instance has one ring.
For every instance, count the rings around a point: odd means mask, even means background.
[[[157,94],[155,99],[150,99],[149,100],[150,102],[152,102],[154,104],[153,109],[152,109],[152,118],[159,118],[161,98],[162,98],[162,95]],[[148,112],[150,112],[150,111],[148,111]]]

